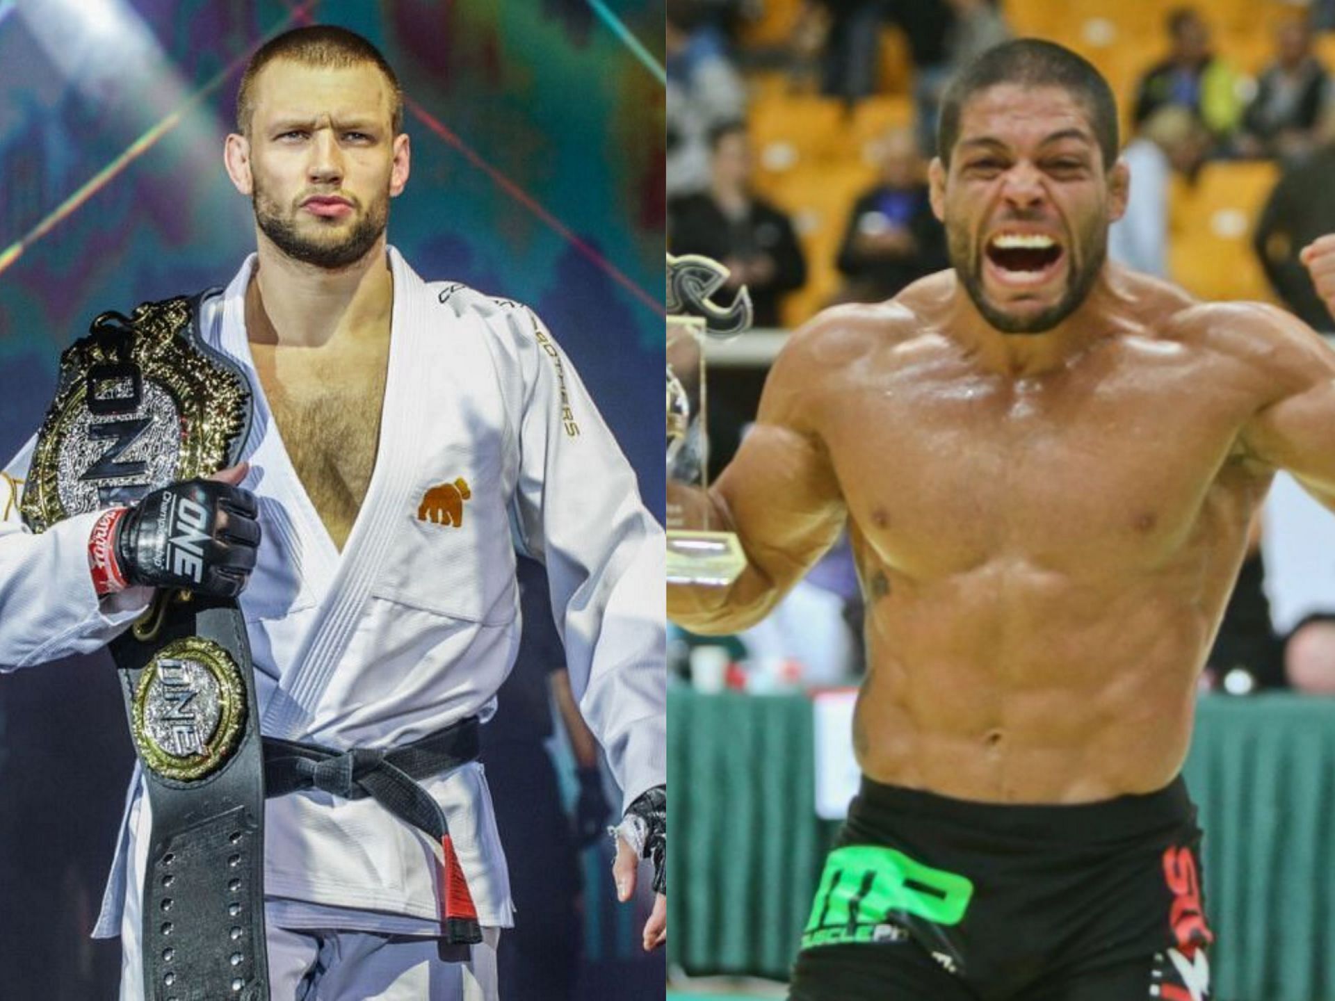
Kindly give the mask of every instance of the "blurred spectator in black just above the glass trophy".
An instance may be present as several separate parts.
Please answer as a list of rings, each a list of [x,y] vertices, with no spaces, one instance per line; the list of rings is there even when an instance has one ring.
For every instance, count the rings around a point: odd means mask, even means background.
[[[746,286],[757,327],[780,326],[785,292],[806,282],[806,260],[793,224],[752,190],[752,151],[746,127],[710,132],[709,192],[669,204],[668,246],[673,254],[704,254],[732,272],[728,287]]]

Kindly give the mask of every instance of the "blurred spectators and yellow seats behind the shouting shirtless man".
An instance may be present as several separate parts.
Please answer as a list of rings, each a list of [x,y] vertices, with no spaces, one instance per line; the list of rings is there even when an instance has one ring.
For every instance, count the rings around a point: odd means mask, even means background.
[[[926,187],[937,108],[959,67],[1020,33],[1012,12],[1020,13],[1021,0],[668,0],[666,7],[673,254],[726,264],[729,283],[750,290],[757,326],[774,328],[798,326],[834,303],[888,299],[948,266]],[[1111,17],[1113,0],[1108,8]],[[1216,47],[1212,0],[1153,5],[1152,51],[1135,49],[1149,52],[1136,65],[1113,60],[1117,73],[1096,57],[1128,51],[1108,33],[1113,21],[1092,16],[1080,25],[1079,39],[1091,47],[1085,55],[1117,92],[1132,172],[1131,203],[1109,234],[1109,256],[1204,298],[1270,298],[1331,331],[1335,320],[1298,255],[1335,232],[1328,63],[1335,0],[1258,0],[1254,9],[1247,43],[1258,32],[1264,40],[1250,64]],[[1187,244],[1183,254],[1175,247],[1187,240],[1180,207],[1203,190],[1200,228],[1216,244],[1204,254]],[[1220,202],[1219,190],[1235,200]],[[1210,256],[1230,246],[1246,260]],[[1243,270],[1255,272],[1255,287],[1240,279],[1223,290],[1193,287],[1197,272],[1218,282],[1220,272],[1227,280]],[[1238,294],[1228,295],[1232,290]],[[754,414],[760,379],[712,371],[710,380],[718,386],[712,428],[736,424],[712,431],[717,468]],[[705,678],[704,687],[856,682],[861,607],[852,557],[845,545],[836,547],[769,621],[724,647],[676,635],[677,670]],[[1203,685],[1335,694],[1335,614],[1310,615],[1276,634],[1259,523]]]

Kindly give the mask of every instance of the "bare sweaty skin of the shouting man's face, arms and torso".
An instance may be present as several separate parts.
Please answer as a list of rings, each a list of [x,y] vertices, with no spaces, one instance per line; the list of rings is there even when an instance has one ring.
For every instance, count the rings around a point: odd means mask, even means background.
[[[957,268],[960,232],[1019,224],[1079,266],[1081,214],[1120,211],[1076,190],[1097,191],[1096,151],[1084,178],[1052,164],[1045,137],[1069,116],[1017,89],[973,99],[955,161],[933,170]],[[975,182],[959,151],[980,132],[1001,165]],[[1068,287],[981,280],[1017,316]],[[866,597],[865,774],[983,802],[1148,793],[1185,758],[1252,514],[1280,468],[1335,509],[1332,442],[1335,355],[1279,310],[1100,264],[1056,327],[1003,335],[943,272],[790,338],[734,462],[708,495],[669,494],[730,525],[749,566],[728,590],[670,587],[669,615],[753,625],[846,523]]]

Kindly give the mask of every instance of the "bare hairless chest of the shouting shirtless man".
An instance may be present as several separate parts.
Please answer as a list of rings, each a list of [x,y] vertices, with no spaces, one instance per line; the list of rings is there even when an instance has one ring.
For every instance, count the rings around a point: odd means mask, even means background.
[[[828,442],[849,510],[890,565],[1015,557],[1149,566],[1232,498],[1246,400],[1185,359],[1012,380],[929,366],[849,387]]]

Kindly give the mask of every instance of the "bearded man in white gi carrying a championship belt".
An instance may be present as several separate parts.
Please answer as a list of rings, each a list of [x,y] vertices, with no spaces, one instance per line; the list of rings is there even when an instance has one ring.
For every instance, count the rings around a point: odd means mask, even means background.
[[[246,462],[31,534],[29,442],[0,480],[0,670],[125,630],[164,583],[147,506],[188,492],[211,518],[203,593],[244,589],[264,735],[398,747],[489,715],[518,646],[522,550],[547,566],[573,687],[625,793],[619,830],[637,844],[621,840],[614,873],[629,900],[637,853],[665,886],[661,530],[537,316],[429,284],[387,246],[409,179],[400,124],[392,71],[351,32],[296,29],[252,57],[226,164],[254,202],[258,254],[200,311],[203,340],[250,376]],[[482,944],[443,944],[439,842],[372,798],[290,793],[266,810],[275,1000],[495,998],[511,905],[483,770],[421,785],[447,817]],[[135,1001],[154,996],[138,944],[150,822],[136,771],[95,933],[121,934],[120,996]],[[665,938],[658,894],[645,948]]]

